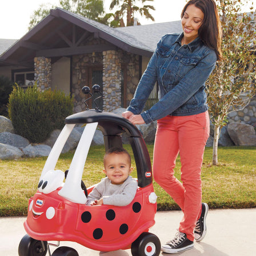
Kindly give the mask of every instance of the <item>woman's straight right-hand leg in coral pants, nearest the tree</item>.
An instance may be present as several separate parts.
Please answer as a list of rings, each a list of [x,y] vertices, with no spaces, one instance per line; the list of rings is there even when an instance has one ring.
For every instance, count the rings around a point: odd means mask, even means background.
[[[179,155],[181,157],[181,180],[184,187],[184,217],[179,231],[194,240],[194,228],[200,213],[202,202],[201,166],[203,152],[210,125],[207,112],[178,117]]]

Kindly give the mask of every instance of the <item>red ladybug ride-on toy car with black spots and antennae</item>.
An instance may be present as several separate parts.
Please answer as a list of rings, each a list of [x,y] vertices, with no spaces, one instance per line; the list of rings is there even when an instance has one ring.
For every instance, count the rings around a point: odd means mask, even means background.
[[[100,93],[97,85],[93,90]],[[89,87],[83,87],[83,92],[92,97]],[[127,119],[101,111],[95,100],[94,103],[95,109],[87,108],[65,119],[65,127],[43,167],[38,190],[29,199],[24,223],[27,234],[19,243],[19,256],[45,256],[47,251],[52,256],[78,256],[76,250],[67,246],[57,247],[51,254],[49,246],[53,244],[47,241],[57,241],[54,246],[59,246],[60,241],[72,241],[98,251],[130,248],[133,256],[158,256],[160,253],[158,237],[148,232],[155,223],[157,196],[153,189],[150,157],[142,135]],[[65,173],[55,170],[55,166],[76,124],[86,126],[65,179]],[[106,150],[122,147],[122,134],[129,139],[136,163],[138,189],[127,206],[86,205],[86,195],[94,186],[87,190],[81,181],[97,127],[102,131]]]

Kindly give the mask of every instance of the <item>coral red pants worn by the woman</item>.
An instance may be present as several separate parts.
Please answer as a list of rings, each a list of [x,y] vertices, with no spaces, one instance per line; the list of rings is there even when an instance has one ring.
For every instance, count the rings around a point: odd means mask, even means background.
[[[201,214],[201,166],[210,133],[209,114],[173,117],[157,122],[153,174],[155,181],[181,207],[184,217],[179,231],[194,241],[195,223]],[[181,181],[174,177],[175,161],[181,157]]]

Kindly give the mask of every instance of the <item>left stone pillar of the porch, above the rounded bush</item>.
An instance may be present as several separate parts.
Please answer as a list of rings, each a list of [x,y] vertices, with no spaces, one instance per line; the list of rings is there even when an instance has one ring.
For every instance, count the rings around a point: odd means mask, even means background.
[[[51,59],[46,57],[34,58],[35,81],[39,91],[51,87]]]

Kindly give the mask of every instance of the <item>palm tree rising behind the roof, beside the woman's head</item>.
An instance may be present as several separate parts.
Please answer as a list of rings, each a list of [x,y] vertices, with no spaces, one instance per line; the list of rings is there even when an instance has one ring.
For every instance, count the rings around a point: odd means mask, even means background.
[[[115,11],[114,21],[111,22],[111,26],[113,27],[124,27],[125,22],[124,18],[126,16],[126,26],[133,26],[135,14],[139,13],[141,16],[145,16],[147,19],[151,19],[151,21],[155,21],[154,17],[150,14],[150,9],[155,10],[155,7],[152,5],[143,5],[142,7],[136,6],[136,2],[145,2],[154,0],[112,0],[110,3],[110,10],[113,10],[115,7],[119,8],[119,10]]]

